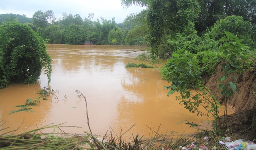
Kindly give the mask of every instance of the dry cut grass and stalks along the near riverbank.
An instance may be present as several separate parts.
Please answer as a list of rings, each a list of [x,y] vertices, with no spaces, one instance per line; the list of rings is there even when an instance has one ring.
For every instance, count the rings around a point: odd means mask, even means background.
[[[0,127],[3,124],[3,121],[0,121]],[[193,135],[177,134],[174,132],[172,132],[170,135],[167,135],[159,134],[160,126],[156,130],[154,128],[148,127],[150,130],[150,137],[145,138],[140,137],[139,135],[133,135],[133,137],[130,138],[132,139],[131,141],[126,141],[126,139],[123,138],[123,135],[127,133],[127,131],[124,133],[121,131],[120,135],[118,135],[111,128],[109,134],[106,133],[103,137],[98,137],[88,132],[85,132],[83,135],[68,134],[61,130],[61,127],[74,128],[75,126],[65,126],[63,123],[58,125],[48,125],[16,135],[12,134],[16,130],[0,134],[0,149],[180,150],[182,147],[186,147],[188,149],[194,145],[196,145],[195,150],[198,150],[200,146],[207,147],[208,149],[225,149],[225,146],[219,143],[222,137],[208,131]],[[46,128],[53,128],[53,132],[43,133],[43,130]],[[56,132],[56,128],[61,132]],[[4,129],[0,129],[0,131],[2,130]],[[209,141],[205,141],[203,139],[205,135],[210,137]],[[231,140],[234,141],[236,139],[235,137],[231,137]]]

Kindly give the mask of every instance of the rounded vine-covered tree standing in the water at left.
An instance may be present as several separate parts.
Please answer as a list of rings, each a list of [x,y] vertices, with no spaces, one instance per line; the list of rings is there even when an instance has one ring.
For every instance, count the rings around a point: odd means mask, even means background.
[[[50,82],[51,58],[45,41],[28,25],[3,23],[0,26],[0,88],[8,83],[37,82],[42,70]]]

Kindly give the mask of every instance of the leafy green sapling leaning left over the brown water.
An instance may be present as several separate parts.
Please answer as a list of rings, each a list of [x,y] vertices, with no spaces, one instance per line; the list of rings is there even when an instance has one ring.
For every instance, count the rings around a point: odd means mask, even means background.
[[[197,113],[197,115],[205,115],[219,122],[219,102],[211,95],[210,90],[202,84],[202,78],[197,70],[199,65],[196,64],[195,54],[185,50],[177,50],[173,52],[172,58],[167,61],[161,70],[162,77],[171,82],[171,86],[165,86],[168,90],[168,96],[174,92],[179,92],[180,96],[176,96],[180,100],[181,105],[189,112]],[[199,92],[198,92],[199,90]],[[201,106],[206,113],[200,111]],[[215,127],[217,130],[217,127]]]

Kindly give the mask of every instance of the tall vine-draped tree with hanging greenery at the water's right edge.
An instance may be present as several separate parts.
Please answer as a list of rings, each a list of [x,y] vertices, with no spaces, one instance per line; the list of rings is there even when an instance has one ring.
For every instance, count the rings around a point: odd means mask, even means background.
[[[189,45],[197,42],[194,22],[199,11],[199,4],[196,0],[150,1],[147,12],[147,27],[152,60],[158,57],[159,45],[167,35],[170,39],[169,43],[173,45],[169,53],[179,49],[179,45],[176,43],[179,44],[184,41],[190,41],[186,44],[190,48],[188,50],[196,53],[195,48]]]

